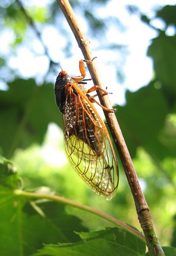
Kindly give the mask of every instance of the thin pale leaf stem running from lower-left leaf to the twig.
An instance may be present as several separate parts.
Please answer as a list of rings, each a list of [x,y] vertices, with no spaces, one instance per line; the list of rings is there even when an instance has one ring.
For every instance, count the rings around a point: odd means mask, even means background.
[[[115,225],[124,228],[125,230],[127,230],[128,232],[130,232],[131,234],[133,234],[134,236],[138,237],[143,243],[146,244],[145,241],[145,236],[142,235],[142,233],[140,233],[139,231],[133,229],[132,227],[126,225],[125,223],[123,223],[122,221],[117,220],[116,218],[112,217],[111,215],[106,214],[105,212],[101,212],[97,209],[94,209],[92,207],[89,207],[87,205],[84,204],[79,204],[78,202],[72,201],[70,199],[67,198],[63,198],[60,197],[58,195],[47,195],[47,194],[38,194],[38,193],[33,193],[33,192],[26,192],[20,189],[16,189],[14,190],[14,195],[19,196],[19,197],[25,197],[25,198],[34,198],[34,199],[48,199],[51,201],[56,201],[58,203],[61,204],[66,204],[66,205],[70,205],[72,207],[78,208],[78,209],[82,209],[86,212],[91,212],[101,218],[104,218],[107,221],[110,221],[112,223],[114,223]]]

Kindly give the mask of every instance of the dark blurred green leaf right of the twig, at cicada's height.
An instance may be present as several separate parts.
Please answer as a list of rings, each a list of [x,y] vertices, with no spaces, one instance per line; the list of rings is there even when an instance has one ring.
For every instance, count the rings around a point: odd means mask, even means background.
[[[126,92],[127,104],[117,107],[116,117],[123,131],[131,157],[136,154],[136,148],[142,146],[156,159],[175,156],[175,150],[163,145],[159,132],[165,125],[168,105],[161,90],[151,82],[131,93]]]

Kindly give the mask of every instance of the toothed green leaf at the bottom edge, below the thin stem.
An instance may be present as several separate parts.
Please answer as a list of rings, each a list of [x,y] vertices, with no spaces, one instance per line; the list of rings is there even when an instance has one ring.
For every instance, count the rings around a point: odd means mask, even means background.
[[[145,244],[135,236],[119,227],[106,228],[91,233],[80,233],[82,242],[74,244],[45,245],[34,256],[62,255],[62,256],[102,256],[102,255],[130,255],[145,254]]]

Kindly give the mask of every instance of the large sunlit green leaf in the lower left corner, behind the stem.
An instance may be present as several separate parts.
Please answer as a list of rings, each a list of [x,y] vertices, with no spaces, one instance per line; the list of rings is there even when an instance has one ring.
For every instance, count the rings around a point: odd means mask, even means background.
[[[74,230],[87,231],[79,218],[65,212],[56,202],[28,202],[17,196],[19,177],[12,163],[0,163],[0,249],[3,256],[31,255],[43,243],[77,242]]]

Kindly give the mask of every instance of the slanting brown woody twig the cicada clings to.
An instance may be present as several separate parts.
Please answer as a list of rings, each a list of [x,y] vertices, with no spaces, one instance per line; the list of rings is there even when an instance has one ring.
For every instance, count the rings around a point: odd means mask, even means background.
[[[91,52],[90,41],[85,36],[79,23],[77,22],[76,16],[74,15],[73,9],[71,8],[68,0],[57,0],[57,2],[60,5],[60,8],[62,9],[62,12],[65,15],[65,18],[67,19],[72,32],[74,33],[77,43],[84,55],[84,58],[87,60],[91,60],[94,57],[94,55]],[[101,77],[99,75],[99,71],[96,67],[96,61],[93,61],[91,65],[89,64],[88,69],[91,74],[92,80],[94,81],[94,84],[98,84],[100,87],[104,88]],[[108,97],[102,97],[99,91],[97,91],[97,94],[99,96],[101,104],[104,105],[106,108],[111,109],[112,106]],[[136,206],[136,211],[138,214],[138,219],[142,227],[142,230],[145,234],[145,239],[147,241],[149,254],[157,256],[165,255],[161,245],[159,244],[159,240],[156,237],[152,217],[150,215],[148,205],[145,201],[145,197],[139,185],[139,180],[137,178],[130,154],[128,152],[128,148],[125,144],[125,140],[122,136],[122,132],[119,128],[119,124],[116,120],[116,116],[114,113],[108,113],[107,111],[104,111],[104,113],[112,137],[116,144],[116,148],[119,152],[119,157],[122,161],[125,175],[128,179],[128,183],[131,188],[131,192]]]

